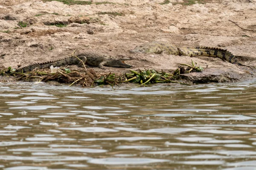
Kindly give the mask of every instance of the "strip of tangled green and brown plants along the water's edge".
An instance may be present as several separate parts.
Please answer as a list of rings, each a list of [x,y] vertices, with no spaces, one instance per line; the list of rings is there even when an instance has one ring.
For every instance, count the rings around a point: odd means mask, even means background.
[[[75,51],[74,51],[75,52]],[[73,53],[74,53],[73,52]],[[73,55],[72,55],[73,56]],[[192,61],[192,60],[191,60]],[[84,63],[83,63],[84,64]],[[178,82],[180,79],[180,74],[190,73],[191,71],[203,71],[204,69],[197,63],[192,65],[180,64],[187,66],[185,69],[183,66],[179,66],[172,74],[165,73],[164,71],[155,71],[154,69],[148,70],[130,70],[130,73],[125,74],[113,74],[113,73],[102,73],[98,74],[93,68],[87,69],[84,65],[84,71],[70,71],[68,68],[58,68],[56,73],[52,74],[47,69],[44,70],[33,70],[26,73],[15,72],[15,69],[9,67],[7,69],[1,70],[0,74],[3,76],[14,76],[19,80],[33,81],[33,79],[40,79],[42,82],[47,81],[58,81],[61,83],[71,83],[73,85],[82,86],[93,86],[93,85],[119,85],[120,83],[138,83],[138,87],[147,86],[153,83],[179,83],[182,85],[189,85],[186,83]]]

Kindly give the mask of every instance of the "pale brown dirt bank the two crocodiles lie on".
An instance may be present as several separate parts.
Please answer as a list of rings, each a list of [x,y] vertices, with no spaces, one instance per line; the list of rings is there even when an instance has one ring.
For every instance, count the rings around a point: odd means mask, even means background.
[[[62,1],[69,4],[1,0],[0,68],[58,59],[71,55],[75,49],[130,57],[135,70],[172,72],[178,63],[191,63],[186,56],[129,53],[136,45],[153,40],[176,46],[224,48],[241,56],[245,65],[256,66],[256,0],[93,0],[88,5],[77,5],[84,1]],[[218,58],[192,59],[208,68],[184,75],[188,81],[228,82],[256,75],[253,69]],[[128,69],[95,71],[119,73]]]

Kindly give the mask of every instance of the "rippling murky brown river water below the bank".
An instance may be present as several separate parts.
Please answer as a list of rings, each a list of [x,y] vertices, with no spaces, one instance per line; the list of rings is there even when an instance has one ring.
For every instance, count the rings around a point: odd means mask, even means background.
[[[0,83],[0,169],[256,170],[256,81]]]

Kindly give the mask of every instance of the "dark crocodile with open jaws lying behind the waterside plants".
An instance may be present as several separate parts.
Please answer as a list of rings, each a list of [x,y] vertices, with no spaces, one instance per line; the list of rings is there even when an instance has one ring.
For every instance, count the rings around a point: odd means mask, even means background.
[[[86,51],[86,52],[77,54],[76,57],[78,57],[86,65],[98,66],[99,68],[102,68],[102,69],[105,69],[104,66],[122,67],[122,68],[134,67],[133,65],[130,65],[127,62],[125,62],[125,60],[129,60],[129,58],[116,59],[96,51]],[[76,57],[71,56],[71,57],[65,57],[62,59],[57,59],[57,60],[48,61],[48,62],[35,63],[32,65],[28,65],[26,67],[18,68],[16,72],[24,73],[24,72],[32,71],[35,68],[37,69],[47,68],[47,67],[49,68],[51,65],[54,67],[59,67],[63,65],[83,66],[83,63],[79,61],[79,59],[77,59]]]

